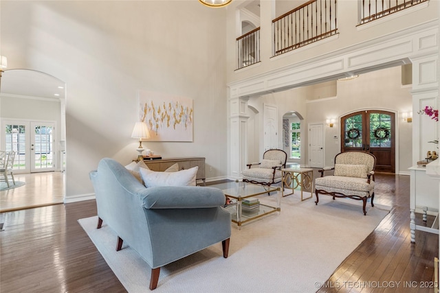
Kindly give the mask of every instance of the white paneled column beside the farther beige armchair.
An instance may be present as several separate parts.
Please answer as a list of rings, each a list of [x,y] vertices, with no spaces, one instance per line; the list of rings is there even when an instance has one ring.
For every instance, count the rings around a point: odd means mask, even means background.
[[[230,99],[230,176],[234,179],[241,178],[247,163],[248,100],[248,97]]]

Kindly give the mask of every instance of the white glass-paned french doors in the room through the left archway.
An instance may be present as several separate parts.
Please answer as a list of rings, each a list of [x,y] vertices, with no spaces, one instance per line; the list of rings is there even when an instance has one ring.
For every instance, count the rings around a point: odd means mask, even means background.
[[[3,121],[2,149],[17,152],[14,172],[48,172],[55,169],[53,122]]]

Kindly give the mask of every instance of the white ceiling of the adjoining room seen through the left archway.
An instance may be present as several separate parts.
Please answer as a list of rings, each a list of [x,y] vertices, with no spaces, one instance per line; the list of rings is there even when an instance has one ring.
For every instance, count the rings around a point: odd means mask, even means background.
[[[1,74],[1,94],[65,99],[65,83],[52,75],[28,69],[11,69]]]

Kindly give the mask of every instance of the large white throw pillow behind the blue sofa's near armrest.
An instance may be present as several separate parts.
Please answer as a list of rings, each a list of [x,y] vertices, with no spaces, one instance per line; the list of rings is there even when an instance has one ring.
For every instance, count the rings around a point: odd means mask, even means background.
[[[140,168],[140,176],[146,187],[155,186],[195,186],[195,178],[199,167],[192,167],[177,172],[155,172]]]

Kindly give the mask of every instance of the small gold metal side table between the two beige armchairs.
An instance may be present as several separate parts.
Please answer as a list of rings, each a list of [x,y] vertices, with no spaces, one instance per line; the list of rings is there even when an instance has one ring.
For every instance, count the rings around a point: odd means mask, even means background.
[[[282,196],[290,196],[294,194],[296,188],[301,187],[301,201],[313,197],[314,169],[292,167],[281,169],[281,172],[283,173],[283,187],[281,189]],[[284,194],[284,189],[292,189],[292,193]],[[310,196],[308,198],[303,197],[303,191],[305,190],[310,191]]]

